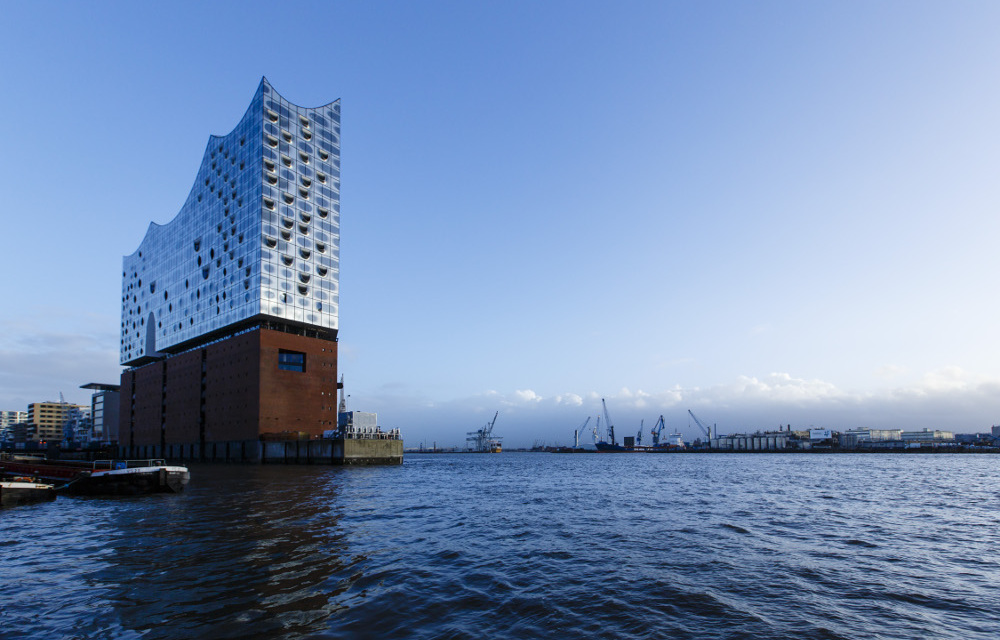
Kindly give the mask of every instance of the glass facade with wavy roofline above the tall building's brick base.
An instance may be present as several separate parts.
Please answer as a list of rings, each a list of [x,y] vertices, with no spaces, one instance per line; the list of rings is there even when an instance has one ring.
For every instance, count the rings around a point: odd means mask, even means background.
[[[299,107],[264,78],[177,216],[125,256],[121,364],[256,317],[336,331],[339,280],[340,101]]]

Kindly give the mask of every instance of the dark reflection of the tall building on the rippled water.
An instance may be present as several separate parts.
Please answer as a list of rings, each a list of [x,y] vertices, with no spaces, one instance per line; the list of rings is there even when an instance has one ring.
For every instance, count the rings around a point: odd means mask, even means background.
[[[146,638],[278,637],[325,628],[353,564],[339,469],[194,468],[184,500],[115,511],[107,571],[118,623]],[[322,499],[319,499],[322,496]]]

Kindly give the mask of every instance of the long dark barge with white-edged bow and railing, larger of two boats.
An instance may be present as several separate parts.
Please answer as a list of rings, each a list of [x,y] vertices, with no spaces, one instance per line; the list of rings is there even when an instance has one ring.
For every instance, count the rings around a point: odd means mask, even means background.
[[[73,495],[180,493],[191,476],[187,467],[164,460],[53,460],[32,456],[0,458],[0,473],[33,476]]]

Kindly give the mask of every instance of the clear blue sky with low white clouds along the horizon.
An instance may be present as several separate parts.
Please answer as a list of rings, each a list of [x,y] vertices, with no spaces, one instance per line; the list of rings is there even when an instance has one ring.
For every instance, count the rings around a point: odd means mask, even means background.
[[[340,352],[408,444],[1000,421],[1000,5],[0,2],[0,408],[260,77],[343,101]]]

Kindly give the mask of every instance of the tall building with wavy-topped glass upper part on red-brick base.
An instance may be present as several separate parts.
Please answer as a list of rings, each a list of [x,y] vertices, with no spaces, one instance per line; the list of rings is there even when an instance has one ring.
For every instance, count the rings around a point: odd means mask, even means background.
[[[262,79],[123,259],[123,452],[254,459],[264,436],[335,429],[339,276],[340,101]]]

